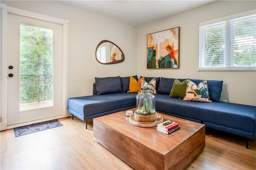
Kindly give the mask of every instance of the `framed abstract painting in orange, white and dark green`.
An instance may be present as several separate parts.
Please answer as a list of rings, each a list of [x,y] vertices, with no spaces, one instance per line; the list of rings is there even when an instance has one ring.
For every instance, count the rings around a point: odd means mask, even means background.
[[[147,69],[180,68],[180,27],[147,35]]]

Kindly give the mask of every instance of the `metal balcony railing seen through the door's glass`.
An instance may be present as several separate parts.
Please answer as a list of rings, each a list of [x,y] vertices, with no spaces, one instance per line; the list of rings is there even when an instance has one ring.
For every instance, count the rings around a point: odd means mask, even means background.
[[[52,75],[20,75],[20,103],[52,100]]]

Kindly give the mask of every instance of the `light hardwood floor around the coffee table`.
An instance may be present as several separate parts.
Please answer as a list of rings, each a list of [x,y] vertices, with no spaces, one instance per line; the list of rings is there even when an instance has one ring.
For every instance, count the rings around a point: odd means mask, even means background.
[[[58,119],[62,127],[15,137],[14,130],[0,132],[0,169],[132,169],[93,139],[92,121],[76,117]],[[187,167],[198,169],[256,169],[256,140],[249,149],[240,136],[206,129],[206,146]]]

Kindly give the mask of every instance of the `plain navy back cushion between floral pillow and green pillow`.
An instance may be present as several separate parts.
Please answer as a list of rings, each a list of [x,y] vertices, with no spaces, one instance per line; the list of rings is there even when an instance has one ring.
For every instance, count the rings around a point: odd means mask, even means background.
[[[158,94],[170,95],[174,79],[161,77],[157,88]]]

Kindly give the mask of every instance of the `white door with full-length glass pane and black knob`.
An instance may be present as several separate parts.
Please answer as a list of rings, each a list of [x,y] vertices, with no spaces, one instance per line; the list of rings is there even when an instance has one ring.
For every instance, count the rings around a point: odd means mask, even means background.
[[[8,14],[7,126],[62,115],[62,25]]]

